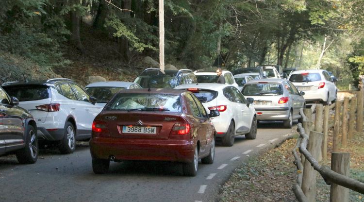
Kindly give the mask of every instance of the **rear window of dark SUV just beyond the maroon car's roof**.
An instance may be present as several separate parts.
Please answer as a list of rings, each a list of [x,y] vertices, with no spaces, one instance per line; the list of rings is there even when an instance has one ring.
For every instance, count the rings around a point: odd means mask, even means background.
[[[177,79],[173,76],[138,76],[134,83],[139,84],[143,88],[174,88],[177,86]]]

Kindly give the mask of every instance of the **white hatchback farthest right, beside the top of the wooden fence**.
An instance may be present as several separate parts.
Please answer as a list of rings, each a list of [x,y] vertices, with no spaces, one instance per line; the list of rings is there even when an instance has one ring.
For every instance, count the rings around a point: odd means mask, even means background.
[[[323,103],[325,105],[337,100],[337,87],[329,73],[323,69],[298,70],[291,73],[288,80],[298,91],[305,92],[306,103]]]

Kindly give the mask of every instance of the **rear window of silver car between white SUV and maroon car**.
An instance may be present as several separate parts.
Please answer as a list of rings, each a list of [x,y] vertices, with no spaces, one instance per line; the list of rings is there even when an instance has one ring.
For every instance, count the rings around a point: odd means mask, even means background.
[[[125,87],[86,87],[85,91],[91,97],[98,99],[97,102],[106,103],[122,89],[125,89]]]

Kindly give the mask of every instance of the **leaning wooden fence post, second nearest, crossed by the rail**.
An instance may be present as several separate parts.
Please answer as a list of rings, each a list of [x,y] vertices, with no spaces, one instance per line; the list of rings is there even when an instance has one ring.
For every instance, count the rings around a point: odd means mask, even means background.
[[[323,134],[315,131],[310,132],[308,138],[307,150],[311,153],[314,159],[317,159],[321,152],[321,145],[323,140]],[[302,178],[302,191],[305,194],[308,202],[314,202],[316,196],[316,176],[317,171],[311,166],[311,163],[305,159],[303,167]]]

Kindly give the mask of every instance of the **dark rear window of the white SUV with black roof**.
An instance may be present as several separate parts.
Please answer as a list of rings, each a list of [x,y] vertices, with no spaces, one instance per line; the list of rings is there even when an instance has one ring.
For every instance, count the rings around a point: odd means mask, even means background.
[[[47,85],[4,86],[4,90],[19,101],[37,101],[50,98],[50,87]]]

